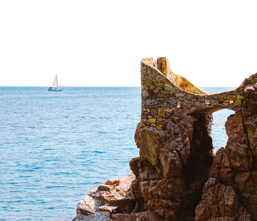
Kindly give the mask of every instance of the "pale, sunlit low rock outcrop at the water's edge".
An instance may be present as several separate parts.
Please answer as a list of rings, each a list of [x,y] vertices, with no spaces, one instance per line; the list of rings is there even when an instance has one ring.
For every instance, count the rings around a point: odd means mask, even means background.
[[[114,213],[131,213],[136,202],[131,196],[131,182],[135,175],[108,179],[79,201],[73,221],[108,221]]]

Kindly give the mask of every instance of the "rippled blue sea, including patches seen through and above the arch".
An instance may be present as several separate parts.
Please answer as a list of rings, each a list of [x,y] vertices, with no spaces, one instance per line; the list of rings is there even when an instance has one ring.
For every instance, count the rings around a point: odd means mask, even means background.
[[[131,172],[140,112],[140,87],[0,87],[0,220],[72,220],[90,189]],[[230,114],[213,114],[215,151]]]

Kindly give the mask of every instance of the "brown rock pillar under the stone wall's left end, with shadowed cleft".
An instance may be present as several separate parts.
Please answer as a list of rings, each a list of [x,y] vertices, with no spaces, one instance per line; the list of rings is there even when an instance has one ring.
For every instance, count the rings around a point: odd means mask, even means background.
[[[194,219],[214,159],[207,124],[204,114],[178,110],[167,119],[166,131],[137,126],[140,157],[130,161],[136,214],[150,210],[158,220]]]

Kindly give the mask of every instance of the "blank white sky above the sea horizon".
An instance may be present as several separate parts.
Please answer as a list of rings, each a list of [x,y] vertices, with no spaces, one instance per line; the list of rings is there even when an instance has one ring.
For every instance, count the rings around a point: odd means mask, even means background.
[[[167,57],[198,87],[257,72],[256,1],[0,0],[0,86],[140,86]]]

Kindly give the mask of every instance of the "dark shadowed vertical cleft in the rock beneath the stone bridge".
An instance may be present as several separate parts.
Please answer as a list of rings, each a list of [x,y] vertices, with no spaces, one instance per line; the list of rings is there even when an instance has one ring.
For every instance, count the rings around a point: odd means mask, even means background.
[[[203,188],[208,180],[208,169],[211,167],[214,155],[212,137],[208,125],[209,115],[191,114],[194,119],[193,134],[190,142],[191,154],[183,171],[184,180],[190,193],[191,210],[199,204],[203,194]]]

